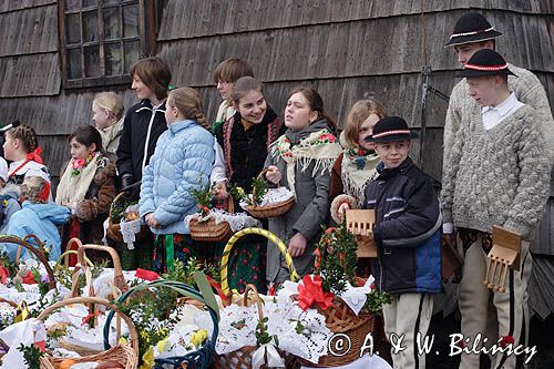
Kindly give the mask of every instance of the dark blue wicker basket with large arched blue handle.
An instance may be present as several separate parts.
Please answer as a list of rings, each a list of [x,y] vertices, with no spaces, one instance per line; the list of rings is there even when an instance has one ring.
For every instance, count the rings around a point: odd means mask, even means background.
[[[207,281],[206,281],[207,283]],[[212,362],[212,357],[213,352],[215,351],[215,342],[217,341],[217,335],[219,332],[218,324],[219,324],[219,316],[218,311],[215,309],[215,307],[212,307],[209,303],[206,303],[206,298],[202,296],[202,294],[183,284],[179,281],[174,281],[174,280],[165,280],[165,279],[157,279],[151,283],[145,283],[137,285],[131,289],[129,289],[125,294],[123,294],[119,299],[117,304],[124,304],[125,300],[133,295],[136,294],[142,294],[148,291],[151,288],[171,288],[179,295],[193,298],[197,301],[201,301],[204,304],[206,309],[209,312],[209,316],[212,317],[212,321],[214,322],[214,331],[212,332],[211,339],[206,339],[204,345],[199,347],[196,351],[189,352],[183,357],[172,357],[172,358],[164,358],[164,359],[155,359],[155,366],[154,369],[165,369],[165,368],[175,368],[175,369],[182,369],[182,368],[187,368],[187,369],[208,369],[211,368],[209,365]],[[213,299],[213,296],[212,296]],[[214,305],[216,304],[215,300],[213,303]],[[107,315],[106,322],[104,325],[104,348],[109,348],[109,335],[110,335],[110,322],[112,321],[114,315],[116,311],[112,310]]]

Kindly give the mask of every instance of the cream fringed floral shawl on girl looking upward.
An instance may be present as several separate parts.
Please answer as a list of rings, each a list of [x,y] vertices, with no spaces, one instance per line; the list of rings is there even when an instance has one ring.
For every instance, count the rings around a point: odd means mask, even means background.
[[[296,164],[300,165],[300,171],[306,171],[315,162],[312,175],[320,171],[330,171],[335,160],[340,155],[341,147],[329,130],[322,129],[310,133],[306,139],[300,140],[297,145],[291,145],[286,134],[281,135],[270,146],[271,157],[279,156],[287,163],[287,181],[289,189],[295,194]]]

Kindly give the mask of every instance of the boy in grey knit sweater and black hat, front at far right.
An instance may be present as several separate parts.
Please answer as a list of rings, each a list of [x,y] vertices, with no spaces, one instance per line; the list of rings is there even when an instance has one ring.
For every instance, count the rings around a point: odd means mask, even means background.
[[[484,337],[486,346],[520,344],[531,273],[529,240],[550,193],[551,165],[540,120],[510,91],[510,75],[514,75],[511,68],[493,50],[480,50],[465,63],[459,76],[465,78],[479,119],[462,116],[449,147],[451,164],[443,173],[444,223],[456,227],[464,257],[461,332],[470,339],[465,346],[478,349]],[[510,269],[505,293],[483,284],[493,225],[524,239],[520,271]],[[500,352],[492,360],[493,368],[515,368],[514,355]],[[462,355],[460,368],[479,368],[479,355]]]

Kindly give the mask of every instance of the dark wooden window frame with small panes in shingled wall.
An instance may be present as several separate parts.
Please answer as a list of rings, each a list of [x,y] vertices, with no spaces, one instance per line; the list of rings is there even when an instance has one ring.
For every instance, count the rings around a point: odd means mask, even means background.
[[[136,3],[138,6],[138,35],[133,37],[137,39],[140,43],[138,48],[138,58],[144,58],[147,55],[153,55],[156,53],[156,11],[154,7],[155,0],[121,0],[120,7],[125,4]],[[131,76],[129,75],[129,71],[125,70],[124,63],[124,54],[122,53],[122,74],[116,75],[103,75],[105,74],[105,44],[114,42],[124,42],[125,37],[123,33],[120,34],[116,39],[104,40],[104,0],[98,0],[98,4],[94,7],[80,7],[75,10],[65,10],[65,0],[58,1],[58,20],[59,20],[59,58],[62,71],[62,85],[64,89],[81,89],[81,88],[93,88],[93,86],[104,86],[104,85],[115,85],[115,84],[127,84],[131,82]],[[109,7],[110,8],[110,7]],[[117,7],[119,8],[119,7]],[[82,13],[91,10],[98,11],[98,41],[85,42],[83,41],[82,32],[83,32],[83,18]],[[123,10],[122,10],[123,11]],[[66,14],[80,14],[80,30],[81,40],[79,47],[68,48],[66,40]],[[123,24],[123,13],[120,13],[120,22]],[[123,27],[123,25],[122,25]],[[84,76],[84,48],[86,45],[99,45],[99,59],[100,59],[100,76]],[[73,45],[73,44],[72,44]],[[79,79],[69,79],[69,65],[68,65],[68,50],[80,50],[81,57],[81,78]],[[123,47],[122,47],[123,49]]]

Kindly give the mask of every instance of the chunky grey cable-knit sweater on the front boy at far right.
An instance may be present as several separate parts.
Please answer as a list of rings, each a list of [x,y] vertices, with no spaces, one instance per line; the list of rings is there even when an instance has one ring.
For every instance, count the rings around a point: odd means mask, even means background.
[[[445,145],[444,222],[484,232],[501,225],[529,239],[550,192],[551,165],[540,119],[523,105],[485,131],[481,106],[464,106],[460,127]]]

